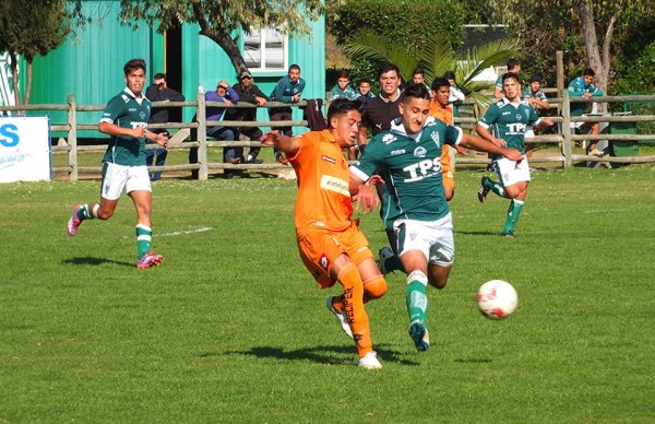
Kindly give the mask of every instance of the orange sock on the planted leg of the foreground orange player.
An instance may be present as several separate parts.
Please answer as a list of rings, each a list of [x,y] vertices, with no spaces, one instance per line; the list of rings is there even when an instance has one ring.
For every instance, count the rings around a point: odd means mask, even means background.
[[[357,344],[359,357],[373,350],[369,329],[368,315],[364,309],[364,283],[355,263],[348,263],[337,275],[338,282],[344,286],[344,310],[348,317],[353,338]],[[341,297],[341,296],[340,296]]]

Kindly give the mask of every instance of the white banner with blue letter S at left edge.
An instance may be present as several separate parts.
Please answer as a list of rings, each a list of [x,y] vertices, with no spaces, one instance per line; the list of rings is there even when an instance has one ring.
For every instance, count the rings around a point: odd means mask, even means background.
[[[0,117],[0,182],[52,178],[48,117]]]

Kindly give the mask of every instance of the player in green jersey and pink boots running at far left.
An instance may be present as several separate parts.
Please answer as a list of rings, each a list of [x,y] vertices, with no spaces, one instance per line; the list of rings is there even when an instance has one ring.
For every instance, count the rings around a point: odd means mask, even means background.
[[[145,164],[145,139],[166,148],[168,137],[145,128],[151,114],[151,102],[141,93],[145,61],[132,59],[123,71],[127,86],[107,103],[98,125],[100,132],[111,136],[103,157],[100,202],[78,204],[67,231],[74,236],[84,220],[110,219],[124,189],[136,209],[136,268],[143,269],[158,266],[164,259],[151,251],[152,188]]]

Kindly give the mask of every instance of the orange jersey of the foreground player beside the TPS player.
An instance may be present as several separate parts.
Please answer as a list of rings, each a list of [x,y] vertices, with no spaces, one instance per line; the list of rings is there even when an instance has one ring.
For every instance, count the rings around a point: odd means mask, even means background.
[[[300,148],[287,157],[298,177],[295,224],[298,237],[312,228],[343,231],[350,226],[353,203],[348,163],[329,130],[300,136]]]

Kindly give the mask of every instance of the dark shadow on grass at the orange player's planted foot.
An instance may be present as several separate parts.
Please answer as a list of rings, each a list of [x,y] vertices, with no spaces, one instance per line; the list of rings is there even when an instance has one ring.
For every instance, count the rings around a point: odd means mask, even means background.
[[[403,365],[419,365],[418,362],[401,358],[402,354],[397,351],[385,349],[383,345],[377,345],[378,357],[384,362],[394,362]],[[348,357],[337,357],[334,354],[344,354]],[[326,365],[353,365],[356,354],[355,346],[315,346],[297,349],[295,351],[284,351],[282,348],[257,346],[248,351],[225,352],[226,355],[247,355],[260,358],[274,358],[285,361],[311,361],[318,364]],[[218,356],[218,352],[201,353],[201,357]]]

